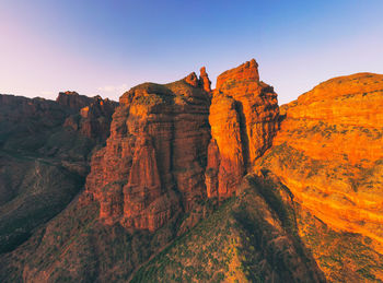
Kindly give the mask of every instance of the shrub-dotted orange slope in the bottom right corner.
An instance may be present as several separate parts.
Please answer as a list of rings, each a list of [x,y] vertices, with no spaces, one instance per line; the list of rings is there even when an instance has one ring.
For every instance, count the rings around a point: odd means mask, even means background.
[[[383,255],[371,239],[335,232],[306,211],[298,214],[300,234],[330,282],[376,282],[383,275]]]

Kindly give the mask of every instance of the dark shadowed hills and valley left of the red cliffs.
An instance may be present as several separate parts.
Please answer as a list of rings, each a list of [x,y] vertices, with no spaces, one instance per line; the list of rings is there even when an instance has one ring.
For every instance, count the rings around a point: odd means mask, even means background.
[[[0,252],[23,243],[72,200],[83,186],[92,149],[103,142],[82,131],[86,119],[79,118],[77,129],[66,127],[80,107],[62,104],[63,97],[74,105],[81,96],[60,93],[51,102],[0,95]],[[86,96],[81,102],[91,109],[105,103],[108,111],[98,117],[111,120],[115,103]]]

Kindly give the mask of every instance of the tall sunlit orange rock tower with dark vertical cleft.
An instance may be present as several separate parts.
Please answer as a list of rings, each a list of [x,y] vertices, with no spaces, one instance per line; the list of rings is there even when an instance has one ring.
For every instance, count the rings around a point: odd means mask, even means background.
[[[254,59],[218,76],[209,116],[209,197],[224,199],[235,191],[246,170],[271,145],[278,117],[277,94],[259,81]]]

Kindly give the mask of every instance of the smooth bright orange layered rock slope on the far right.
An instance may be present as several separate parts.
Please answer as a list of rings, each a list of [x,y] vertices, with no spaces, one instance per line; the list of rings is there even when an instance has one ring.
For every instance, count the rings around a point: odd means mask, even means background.
[[[383,250],[383,75],[321,83],[281,107],[275,146],[259,162],[332,227]]]

